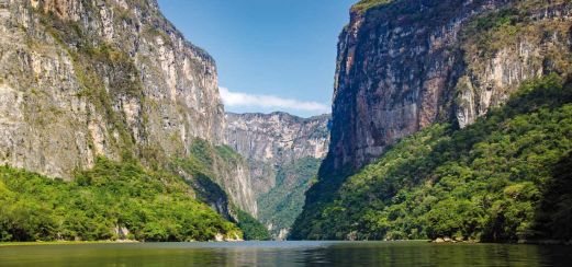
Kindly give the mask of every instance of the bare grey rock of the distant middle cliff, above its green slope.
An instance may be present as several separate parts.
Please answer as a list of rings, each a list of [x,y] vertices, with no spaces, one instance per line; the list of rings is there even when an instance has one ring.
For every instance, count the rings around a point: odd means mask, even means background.
[[[261,195],[276,185],[277,167],[326,155],[328,120],[329,115],[305,119],[287,113],[227,113],[226,141],[250,162],[253,186]]]

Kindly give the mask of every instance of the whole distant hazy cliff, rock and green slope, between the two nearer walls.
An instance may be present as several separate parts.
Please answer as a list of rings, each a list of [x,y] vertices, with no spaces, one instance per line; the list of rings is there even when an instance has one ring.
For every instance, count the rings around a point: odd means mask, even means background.
[[[327,152],[329,116],[228,113],[226,120],[227,143],[249,162],[258,217],[276,239],[283,239]]]

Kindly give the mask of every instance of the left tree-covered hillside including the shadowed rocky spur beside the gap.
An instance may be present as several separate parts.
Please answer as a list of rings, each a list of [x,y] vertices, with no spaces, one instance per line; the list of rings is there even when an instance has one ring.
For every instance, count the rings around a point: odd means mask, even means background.
[[[266,228],[221,185],[218,172],[229,167],[223,164],[238,160],[229,148],[197,139],[188,158],[166,169],[99,158],[65,182],[2,166],[0,242],[266,240]]]

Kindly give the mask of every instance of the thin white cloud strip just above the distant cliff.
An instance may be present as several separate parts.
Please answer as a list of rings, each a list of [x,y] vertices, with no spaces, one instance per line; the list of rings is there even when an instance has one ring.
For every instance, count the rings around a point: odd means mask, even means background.
[[[228,107],[265,108],[272,111],[300,111],[309,113],[329,113],[330,107],[318,102],[306,102],[282,98],[274,95],[258,95],[232,92],[227,88],[218,88],[223,103]]]

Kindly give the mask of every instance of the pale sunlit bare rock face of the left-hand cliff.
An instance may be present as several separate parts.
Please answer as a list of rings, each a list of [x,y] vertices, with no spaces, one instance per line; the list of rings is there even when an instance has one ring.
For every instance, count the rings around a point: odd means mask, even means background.
[[[0,1],[0,163],[70,177],[223,140],[213,59],[155,0]]]

